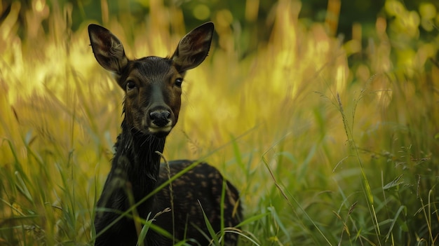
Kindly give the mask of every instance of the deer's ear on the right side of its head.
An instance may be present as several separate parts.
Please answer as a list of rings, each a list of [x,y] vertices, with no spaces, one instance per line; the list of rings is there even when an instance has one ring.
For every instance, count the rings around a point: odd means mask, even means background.
[[[208,56],[212,42],[213,23],[207,22],[186,34],[178,43],[171,59],[180,72],[197,67]]]

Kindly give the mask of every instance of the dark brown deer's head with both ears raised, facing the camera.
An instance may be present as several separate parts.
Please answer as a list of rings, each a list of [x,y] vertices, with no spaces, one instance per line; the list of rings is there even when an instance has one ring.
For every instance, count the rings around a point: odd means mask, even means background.
[[[186,34],[174,54],[166,58],[130,60],[121,41],[108,29],[92,24],[88,34],[97,62],[114,73],[125,91],[123,111],[128,127],[145,135],[168,135],[178,120],[184,74],[208,55],[213,23],[205,23]]]

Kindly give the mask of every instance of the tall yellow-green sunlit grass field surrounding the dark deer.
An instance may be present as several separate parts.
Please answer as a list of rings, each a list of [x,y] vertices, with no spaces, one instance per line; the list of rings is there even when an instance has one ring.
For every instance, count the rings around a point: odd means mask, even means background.
[[[91,245],[123,91],[93,57],[97,20],[72,29],[71,5],[32,4],[0,24],[0,245]],[[210,55],[184,79],[163,155],[206,160],[236,185],[239,245],[439,244],[435,7],[386,1],[372,36],[354,23],[344,39],[301,8],[278,1],[248,50],[233,11],[212,12]],[[161,1],[149,10],[136,25],[100,10],[129,57],[170,55],[195,27]]]

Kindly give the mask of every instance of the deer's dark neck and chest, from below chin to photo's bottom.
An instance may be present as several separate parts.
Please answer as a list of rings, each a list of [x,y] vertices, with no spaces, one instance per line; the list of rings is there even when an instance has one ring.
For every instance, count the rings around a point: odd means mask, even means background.
[[[160,156],[156,151],[162,152],[164,146],[164,137],[135,132],[126,125],[125,120],[123,121],[122,132],[114,145],[116,153],[112,161],[112,170],[97,201],[97,207],[119,212],[97,212],[96,233],[100,233],[117,219],[120,212],[125,212],[133,203],[139,202],[156,189],[160,168]],[[136,210],[140,217],[146,218],[149,212],[154,211],[154,197],[145,200]],[[132,244],[135,245],[135,238],[133,221],[123,218],[108,231],[104,231],[104,235],[97,238],[95,245],[119,245],[119,240],[123,240],[120,245],[128,245],[129,239],[134,240]]]

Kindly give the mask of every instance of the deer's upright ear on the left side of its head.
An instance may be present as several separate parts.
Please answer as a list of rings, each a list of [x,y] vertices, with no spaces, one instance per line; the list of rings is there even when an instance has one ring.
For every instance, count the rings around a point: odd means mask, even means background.
[[[104,69],[120,75],[128,64],[121,41],[108,29],[94,24],[88,26],[88,36],[97,62]]]

